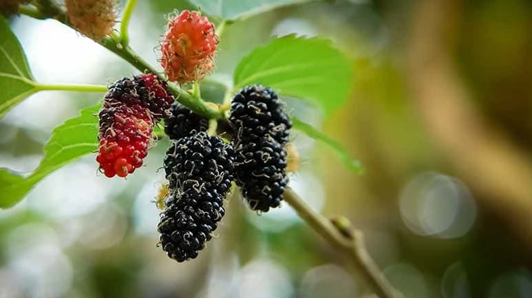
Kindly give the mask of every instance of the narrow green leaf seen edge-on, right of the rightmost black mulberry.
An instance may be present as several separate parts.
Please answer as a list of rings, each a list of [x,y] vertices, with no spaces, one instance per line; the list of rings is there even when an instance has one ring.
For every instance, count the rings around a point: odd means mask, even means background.
[[[352,170],[353,172],[356,172],[358,174],[361,174],[363,172],[363,167],[357,159],[353,159],[350,157],[349,153],[338,141],[335,141],[334,139],[331,139],[324,133],[321,133],[321,131],[314,128],[312,125],[302,122],[301,120],[291,117],[292,123],[294,124],[294,128],[301,131],[302,133],[305,133],[308,135],[308,137],[315,139],[316,141],[320,141],[323,144],[326,144],[329,148],[334,150],[337,153],[338,158],[340,161],[345,165],[347,168]]]

